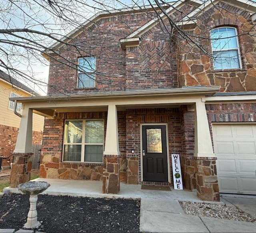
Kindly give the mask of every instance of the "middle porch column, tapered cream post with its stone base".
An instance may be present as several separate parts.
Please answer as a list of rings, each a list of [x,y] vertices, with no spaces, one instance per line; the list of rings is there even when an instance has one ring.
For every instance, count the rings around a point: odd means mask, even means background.
[[[102,192],[104,194],[117,194],[120,190],[119,155],[117,110],[116,105],[109,105],[103,152]]]

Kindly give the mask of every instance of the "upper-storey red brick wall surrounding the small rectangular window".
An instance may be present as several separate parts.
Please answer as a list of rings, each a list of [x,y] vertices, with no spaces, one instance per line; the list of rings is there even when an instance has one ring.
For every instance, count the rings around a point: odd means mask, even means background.
[[[86,91],[118,91],[125,90],[125,51],[120,46],[120,39],[125,38],[134,30],[148,22],[152,18],[144,14],[131,14],[114,16],[113,18],[101,19],[96,24],[86,28],[71,43],[80,43],[82,49],[72,51],[74,48],[63,47],[60,50],[63,57],[68,58],[71,63],[65,66],[53,59],[50,62],[48,94],[61,93],[83,93],[84,89],[76,89],[76,70],[78,57],[96,56],[96,78],[95,88]],[[83,42],[84,41],[84,44]],[[93,48],[96,47],[96,48]]]

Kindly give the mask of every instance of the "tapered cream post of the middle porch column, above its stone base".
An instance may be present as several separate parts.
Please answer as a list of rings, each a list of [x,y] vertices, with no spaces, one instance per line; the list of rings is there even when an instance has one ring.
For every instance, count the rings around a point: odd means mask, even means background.
[[[119,155],[118,122],[116,105],[108,106],[108,119],[105,139],[105,150],[103,154]]]

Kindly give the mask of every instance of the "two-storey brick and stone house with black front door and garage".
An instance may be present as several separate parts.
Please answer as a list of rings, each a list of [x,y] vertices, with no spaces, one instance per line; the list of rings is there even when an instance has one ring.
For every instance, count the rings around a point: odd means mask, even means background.
[[[78,72],[48,51],[48,95],[12,98],[26,111],[24,135],[32,110],[48,117],[40,177],[98,180],[103,193],[120,182],[174,186],[179,154],[183,187],[200,199],[256,194],[256,3],[177,1],[166,12],[206,53],[175,30],[170,40],[168,18],[151,20],[150,8],[101,12],[68,35],[87,51],[52,47]],[[28,156],[30,144],[18,138],[15,152]]]

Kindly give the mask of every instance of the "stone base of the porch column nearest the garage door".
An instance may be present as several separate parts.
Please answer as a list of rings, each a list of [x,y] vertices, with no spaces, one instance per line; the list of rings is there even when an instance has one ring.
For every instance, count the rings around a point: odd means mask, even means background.
[[[216,157],[195,157],[197,196],[203,201],[220,201]]]

